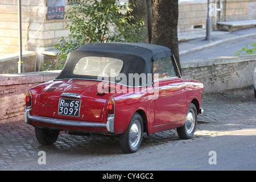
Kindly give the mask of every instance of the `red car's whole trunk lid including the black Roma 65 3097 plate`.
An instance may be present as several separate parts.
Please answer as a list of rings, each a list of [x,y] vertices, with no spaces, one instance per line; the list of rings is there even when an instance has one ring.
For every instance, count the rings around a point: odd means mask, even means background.
[[[112,94],[98,93],[100,81],[64,80],[48,85],[40,94],[39,115],[102,122]],[[72,107],[71,107],[72,106]]]

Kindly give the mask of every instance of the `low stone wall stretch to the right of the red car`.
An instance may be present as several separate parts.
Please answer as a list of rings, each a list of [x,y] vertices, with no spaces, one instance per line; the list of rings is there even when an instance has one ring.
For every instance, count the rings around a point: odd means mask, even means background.
[[[220,92],[253,85],[256,55],[189,60],[181,67],[183,78],[203,82],[204,92]]]

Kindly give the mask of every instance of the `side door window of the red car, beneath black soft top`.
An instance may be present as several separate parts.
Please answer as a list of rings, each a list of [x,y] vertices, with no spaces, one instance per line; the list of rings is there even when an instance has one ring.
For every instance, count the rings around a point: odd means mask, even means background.
[[[158,78],[177,77],[174,62],[171,57],[163,57],[154,61],[153,73],[158,74]]]

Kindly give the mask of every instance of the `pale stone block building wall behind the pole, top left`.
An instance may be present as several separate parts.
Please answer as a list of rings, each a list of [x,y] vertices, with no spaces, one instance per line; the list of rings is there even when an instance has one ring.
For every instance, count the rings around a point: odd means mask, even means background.
[[[68,0],[64,1],[67,5]],[[22,0],[22,45],[24,51],[54,49],[54,43],[68,36],[68,20],[47,20],[47,0]],[[68,9],[68,6],[65,6]],[[18,1],[0,2],[0,56],[19,52]]]

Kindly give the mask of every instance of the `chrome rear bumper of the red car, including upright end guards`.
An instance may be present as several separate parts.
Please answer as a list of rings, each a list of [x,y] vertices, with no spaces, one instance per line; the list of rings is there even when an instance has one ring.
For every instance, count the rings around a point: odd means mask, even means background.
[[[25,109],[24,120],[30,124],[30,121],[43,122],[52,125],[74,126],[74,127],[105,127],[110,133],[114,133],[114,116],[109,116],[106,123],[91,121],[76,121],[69,119],[49,118],[38,115],[30,115],[31,109]]]

